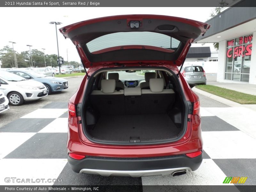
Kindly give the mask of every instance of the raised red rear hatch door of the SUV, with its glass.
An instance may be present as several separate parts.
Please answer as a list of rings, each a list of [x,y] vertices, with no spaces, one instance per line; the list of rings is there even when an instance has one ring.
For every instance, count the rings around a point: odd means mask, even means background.
[[[118,15],[60,28],[76,45],[85,68],[110,65],[175,65],[210,25],[163,15]]]

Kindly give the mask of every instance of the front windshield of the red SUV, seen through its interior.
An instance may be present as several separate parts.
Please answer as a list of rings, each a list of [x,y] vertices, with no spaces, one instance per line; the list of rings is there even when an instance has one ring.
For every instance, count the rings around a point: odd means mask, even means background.
[[[107,79],[109,73],[118,73],[119,74],[119,80],[121,81],[130,81],[130,80],[144,80],[145,73],[146,72],[156,72],[155,70],[137,70],[136,72],[129,73],[125,71],[108,71],[107,73]]]

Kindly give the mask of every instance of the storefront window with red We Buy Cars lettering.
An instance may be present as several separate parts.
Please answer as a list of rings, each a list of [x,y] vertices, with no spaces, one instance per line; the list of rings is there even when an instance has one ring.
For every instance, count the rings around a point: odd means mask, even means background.
[[[227,41],[225,79],[249,82],[252,34]]]

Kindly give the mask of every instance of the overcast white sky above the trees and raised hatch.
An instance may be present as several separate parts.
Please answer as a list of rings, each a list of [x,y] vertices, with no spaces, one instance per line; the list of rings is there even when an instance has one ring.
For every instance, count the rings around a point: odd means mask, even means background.
[[[159,14],[175,17],[183,17],[192,20],[205,22],[210,19],[210,13],[214,7],[0,7],[0,49],[16,42],[14,50],[17,52],[38,49],[45,54],[58,54],[55,25],[49,24],[51,21],[61,22],[57,29],[66,25],[83,20],[105,17],[111,15],[124,14]],[[58,32],[60,56],[68,61],[77,61],[80,58],[76,52],[75,45],[70,39],[65,39]],[[202,46],[192,44],[192,46]],[[214,51],[212,44],[210,46]]]

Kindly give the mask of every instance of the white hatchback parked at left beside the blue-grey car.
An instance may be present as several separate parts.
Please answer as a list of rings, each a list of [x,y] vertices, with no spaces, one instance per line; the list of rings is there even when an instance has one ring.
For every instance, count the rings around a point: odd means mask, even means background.
[[[38,100],[48,95],[44,84],[9,72],[0,71],[0,82],[0,90],[11,105],[21,105],[24,101]]]

